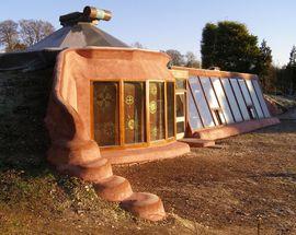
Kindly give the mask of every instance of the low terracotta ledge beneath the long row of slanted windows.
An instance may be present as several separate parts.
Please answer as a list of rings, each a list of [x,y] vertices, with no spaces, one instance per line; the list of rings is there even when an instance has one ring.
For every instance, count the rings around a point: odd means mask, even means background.
[[[280,124],[280,119],[275,117],[249,120],[249,121],[243,121],[239,124],[232,124],[232,125],[227,125],[227,126],[221,126],[221,127],[198,130],[193,133],[193,138],[197,138],[202,140],[219,140],[219,139],[237,136],[240,133],[251,132],[257,129],[261,129],[261,128],[277,125],[277,124]]]

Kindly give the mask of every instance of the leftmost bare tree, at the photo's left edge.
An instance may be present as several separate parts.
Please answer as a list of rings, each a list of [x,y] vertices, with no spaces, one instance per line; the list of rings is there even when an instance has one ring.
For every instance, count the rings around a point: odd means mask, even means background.
[[[7,51],[12,51],[18,43],[18,23],[11,20],[0,22],[0,45],[3,45]]]

